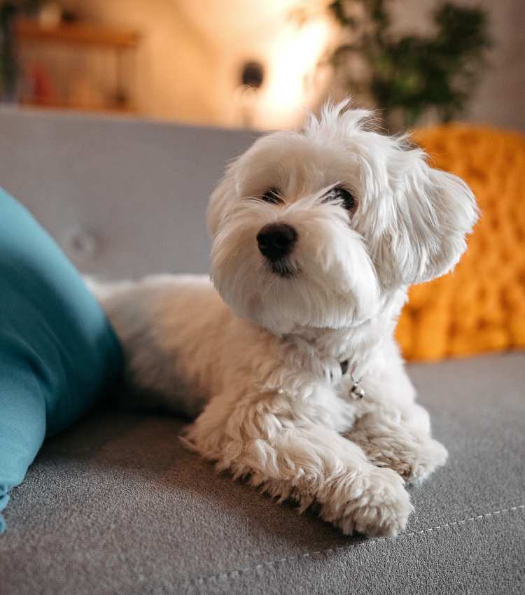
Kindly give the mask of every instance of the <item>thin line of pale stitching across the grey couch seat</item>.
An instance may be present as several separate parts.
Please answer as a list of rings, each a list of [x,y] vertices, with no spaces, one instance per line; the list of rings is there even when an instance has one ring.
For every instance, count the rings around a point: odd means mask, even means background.
[[[339,547],[330,547],[328,549],[318,549],[314,552],[305,552],[304,554],[295,554],[294,556],[285,556],[284,558],[277,558],[275,560],[269,560],[266,562],[261,562],[256,564],[255,566],[246,566],[245,568],[238,568],[237,570],[223,570],[223,572],[219,572],[212,575],[205,575],[195,578],[190,578],[183,581],[183,584],[196,584],[202,585],[212,580],[228,580],[230,578],[237,578],[240,575],[245,573],[251,572],[253,570],[260,570],[261,568],[268,568],[269,566],[276,566],[277,564],[281,564],[283,562],[289,562],[293,560],[301,560],[304,558],[311,558],[313,556],[323,556],[328,554],[334,554],[335,552],[345,552],[350,549],[358,549],[360,547],[367,547],[370,545],[375,545],[376,543],[381,542],[395,542],[400,539],[407,539],[413,537],[414,535],[423,535],[425,533],[433,533],[434,531],[442,531],[443,529],[462,526],[467,523],[483,521],[484,519],[489,519],[490,517],[498,517],[499,514],[505,514],[506,512],[517,512],[517,510],[524,510],[525,504],[519,504],[517,506],[510,506],[508,508],[502,508],[501,510],[495,510],[493,512],[486,512],[485,514],[477,514],[475,517],[469,517],[468,519],[463,519],[461,521],[449,521],[442,525],[436,525],[427,529],[421,529],[421,531],[409,531],[409,533],[400,533],[395,540],[391,540],[390,538],[380,537],[374,540],[365,541],[363,543],[357,543],[356,545],[342,545]]]

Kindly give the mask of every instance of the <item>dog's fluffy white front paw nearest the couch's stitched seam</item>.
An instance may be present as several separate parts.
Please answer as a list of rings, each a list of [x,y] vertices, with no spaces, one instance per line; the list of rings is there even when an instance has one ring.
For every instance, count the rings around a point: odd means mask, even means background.
[[[321,507],[321,516],[346,535],[395,537],[402,531],[413,506],[398,473],[377,468],[356,479],[343,478]]]

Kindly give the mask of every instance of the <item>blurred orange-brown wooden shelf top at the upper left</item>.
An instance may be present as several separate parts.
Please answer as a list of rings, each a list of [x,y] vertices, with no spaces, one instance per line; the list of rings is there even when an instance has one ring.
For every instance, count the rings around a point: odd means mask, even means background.
[[[21,42],[92,45],[103,48],[126,49],[139,45],[138,31],[113,29],[92,23],[61,24],[45,27],[35,20],[19,19],[15,25]]]

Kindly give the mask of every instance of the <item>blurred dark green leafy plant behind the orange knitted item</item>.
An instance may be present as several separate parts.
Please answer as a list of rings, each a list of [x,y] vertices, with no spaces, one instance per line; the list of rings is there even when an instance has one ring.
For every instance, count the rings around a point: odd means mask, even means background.
[[[388,0],[330,3],[331,15],[349,40],[328,57],[342,85],[354,94],[368,94],[384,112],[387,125],[394,113],[401,113],[402,127],[416,124],[428,109],[435,109],[445,122],[458,116],[491,45],[488,15],[480,8],[443,2],[433,13],[434,34],[395,36],[387,4]],[[355,59],[364,60],[365,73],[361,69],[352,74]]]

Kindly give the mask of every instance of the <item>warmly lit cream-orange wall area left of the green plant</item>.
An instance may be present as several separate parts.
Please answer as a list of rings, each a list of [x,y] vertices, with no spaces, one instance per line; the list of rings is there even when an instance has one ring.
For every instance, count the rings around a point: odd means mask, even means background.
[[[328,35],[325,22],[300,29],[287,19],[296,0],[68,0],[91,20],[144,34],[134,96],[146,116],[239,126],[244,101],[235,94],[241,64],[260,59],[267,80],[255,127],[287,126],[315,104],[308,85]],[[311,92],[309,92],[309,90]]]

